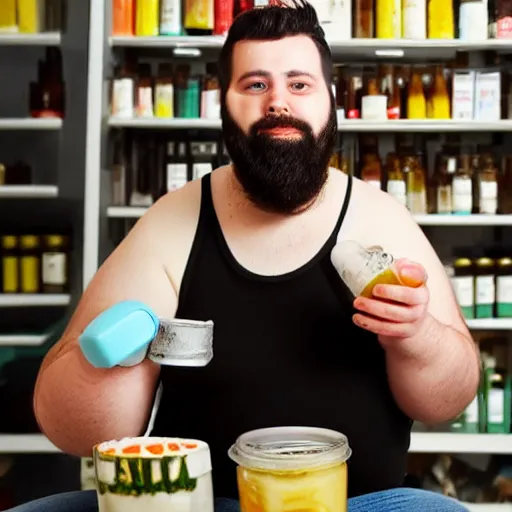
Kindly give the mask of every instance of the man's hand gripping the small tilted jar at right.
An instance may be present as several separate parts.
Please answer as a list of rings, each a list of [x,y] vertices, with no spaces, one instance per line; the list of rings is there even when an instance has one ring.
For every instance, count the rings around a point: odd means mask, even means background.
[[[402,285],[378,284],[371,299],[356,297],[354,300],[354,307],[359,311],[353,316],[354,323],[377,334],[385,348],[398,340],[416,338],[430,318],[425,269],[418,263],[399,259],[395,272]]]

